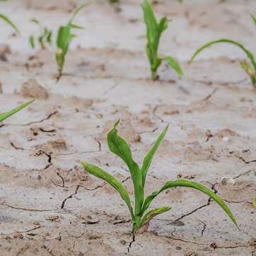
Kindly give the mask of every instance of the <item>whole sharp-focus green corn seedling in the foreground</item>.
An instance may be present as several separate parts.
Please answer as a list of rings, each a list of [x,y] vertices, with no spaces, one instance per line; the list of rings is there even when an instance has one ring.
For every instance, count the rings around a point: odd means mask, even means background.
[[[158,146],[161,144],[161,141],[163,140],[168,127],[165,128],[161,136],[159,136],[159,138],[157,139],[153,148],[149,151],[149,153],[144,158],[142,168],[139,168],[139,165],[137,165],[137,163],[135,163],[134,160],[132,159],[132,152],[127,142],[117,135],[116,127],[118,123],[119,121],[115,123],[114,128],[110,131],[109,134],[107,134],[107,144],[109,146],[110,151],[112,151],[112,153],[115,153],[117,156],[122,158],[124,163],[126,163],[126,165],[129,168],[129,171],[132,176],[132,182],[134,185],[135,210],[133,211],[132,209],[130,197],[127,190],[125,190],[124,186],[118,180],[116,180],[114,177],[112,177],[112,175],[106,173],[104,170],[98,168],[95,165],[91,165],[90,163],[85,163],[85,162],[82,162],[82,165],[83,165],[83,168],[85,168],[85,170],[88,173],[91,173],[92,175],[95,175],[96,177],[105,180],[112,187],[114,187],[118,192],[120,192],[120,195],[122,199],[126,202],[129,212],[132,216],[133,235],[135,235],[136,231],[138,231],[139,228],[148,225],[149,221],[151,221],[151,219],[154,216],[158,214],[162,214],[163,212],[169,211],[171,209],[170,206],[163,206],[163,207],[158,207],[156,209],[152,209],[151,211],[148,211],[145,214],[146,210],[149,208],[151,201],[159,193],[163,192],[164,190],[167,190],[170,187],[192,187],[196,190],[200,190],[204,192],[205,194],[208,194],[209,197],[214,199],[214,201],[217,202],[223,208],[224,211],[226,211],[228,216],[235,223],[235,226],[237,226],[235,218],[233,217],[231,210],[228,209],[228,206],[226,206],[226,204],[216,194],[214,194],[214,192],[211,192],[211,190],[208,190],[206,187],[204,187],[203,185],[200,185],[197,182],[192,182],[187,180],[168,181],[161,188],[161,190],[154,191],[151,195],[149,195],[145,199],[144,186],[146,182],[146,174],[148,173],[149,167],[151,165],[151,161],[153,160],[153,156],[156,153]]]

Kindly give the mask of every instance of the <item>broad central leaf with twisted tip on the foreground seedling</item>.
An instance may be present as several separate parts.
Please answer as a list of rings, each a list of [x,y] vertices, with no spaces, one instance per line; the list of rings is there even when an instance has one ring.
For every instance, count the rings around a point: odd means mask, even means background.
[[[139,166],[132,159],[132,152],[124,139],[117,135],[117,125],[119,120],[115,123],[114,128],[107,134],[107,144],[112,153],[122,158],[124,163],[127,164],[129,171],[132,175],[132,182],[134,184],[135,194],[135,214],[139,214],[141,206],[144,202],[144,188],[142,186],[141,170]]]

